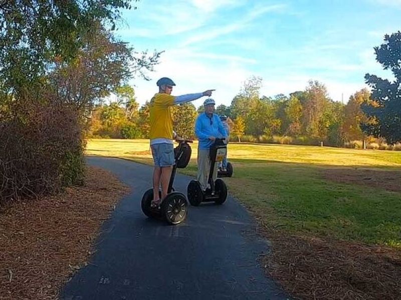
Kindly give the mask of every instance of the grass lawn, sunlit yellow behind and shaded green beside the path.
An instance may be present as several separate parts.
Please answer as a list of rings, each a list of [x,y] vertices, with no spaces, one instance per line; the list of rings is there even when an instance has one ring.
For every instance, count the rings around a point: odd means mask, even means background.
[[[196,147],[180,171],[196,173]],[[149,141],[90,140],[87,154],[152,163]],[[299,145],[229,145],[229,191],[264,222],[297,234],[401,247],[401,193],[324,179],[327,168],[400,170],[401,152]],[[401,171],[401,170],[400,170]],[[150,180],[150,178],[149,178]],[[401,184],[401,182],[400,182]]]

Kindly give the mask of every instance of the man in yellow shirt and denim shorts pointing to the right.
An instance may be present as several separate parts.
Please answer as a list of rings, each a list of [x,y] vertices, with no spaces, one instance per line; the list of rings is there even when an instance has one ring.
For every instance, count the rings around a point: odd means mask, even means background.
[[[170,180],[172,166],[175,163],[173,138],[177,138],[172,128],[171,106],[196,100],[202,96],[211,96],[214,89],[204,92],[172,96],[171,91],[175,85],[170,78],[162,77],[157,80],[159,92],[149,103],[150,114],[150,148],[152,150],[153,170],[153,201],[152,206],[160,205],[167,195],[168,182]],[[161,199],[159,198],[159,186],[161,183]]]

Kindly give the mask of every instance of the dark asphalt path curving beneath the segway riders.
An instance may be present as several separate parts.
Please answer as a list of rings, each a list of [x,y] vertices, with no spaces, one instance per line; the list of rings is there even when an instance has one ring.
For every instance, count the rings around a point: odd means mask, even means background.
[[[223,205],[188,204],[186,220],[169,225],[140,208],[151,187],[151,166],[95,156],[87,162],[116,174],[131,192],[103,224],[97,251],[64,286],[61,299],[289,298],[265,275],[259,258],[269,242],[235,198]],[[178,173],[175,190],[186,194],[190,179]]]

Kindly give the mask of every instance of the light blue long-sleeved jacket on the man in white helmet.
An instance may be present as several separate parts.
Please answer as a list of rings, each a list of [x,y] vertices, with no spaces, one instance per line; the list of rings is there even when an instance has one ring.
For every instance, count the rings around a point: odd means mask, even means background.
[[[210,118],[205,112],[199,114],[195,121],[195,135],[199,139],[199,149],[209,149],[213,140],[209,136],[228,137],[218,114],[214,113]]]

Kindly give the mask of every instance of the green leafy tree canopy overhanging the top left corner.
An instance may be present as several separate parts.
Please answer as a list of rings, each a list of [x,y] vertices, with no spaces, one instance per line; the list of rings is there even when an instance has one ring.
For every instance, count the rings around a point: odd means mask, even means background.
[[[136,0],[135,0],[136,1]],[[99,20],[114,29],[130,0],[26,0],[0,5],[0,82],[6,92],[39,84],[54,58],[71,61]],[[25,89],[24,89],[25,88]]]

